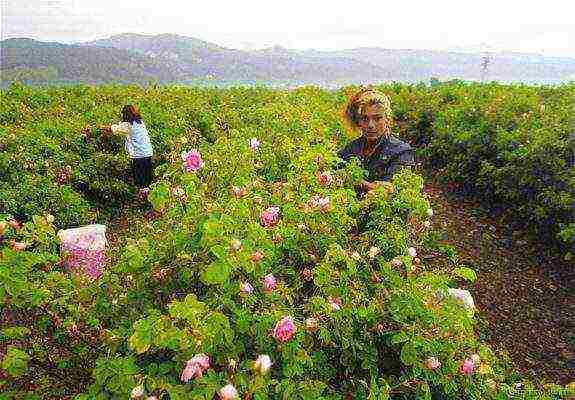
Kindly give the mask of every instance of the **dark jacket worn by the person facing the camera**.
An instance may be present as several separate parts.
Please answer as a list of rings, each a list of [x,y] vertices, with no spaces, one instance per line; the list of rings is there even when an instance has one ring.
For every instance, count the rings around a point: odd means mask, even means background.
[[[367,181],[390,181],[402,166],[415,164],[413,148],[393,136],[382,136],[373,154],[367,158],[362,155],[366,145],[366,138],[361,136],[348,143],[338,154],[344,161],[357,157],[361,166],[368,171]]]

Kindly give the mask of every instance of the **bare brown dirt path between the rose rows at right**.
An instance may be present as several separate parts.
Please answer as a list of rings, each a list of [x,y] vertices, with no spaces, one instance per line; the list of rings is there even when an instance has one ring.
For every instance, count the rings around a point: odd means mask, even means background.
[[[469,285],[479,309],[479,334],[506,352],[535,381],[575,381],[574,270],[541,257],[537,244],[429,181],[433,228],[475,269]]]

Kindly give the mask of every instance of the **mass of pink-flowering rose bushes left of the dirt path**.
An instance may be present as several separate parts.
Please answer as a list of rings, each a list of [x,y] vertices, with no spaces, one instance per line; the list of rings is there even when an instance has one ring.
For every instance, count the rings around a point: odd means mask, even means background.
[[[96,145],[97,130],[91,144],[76,137],[85,123],[117,117],[118,94],[150,115],[160,165],[149,199],[161,215],[133,221],[98,279],[60,265],[54,225],[82,223],[71,198],[51,222],[26,210],[24,224],[1,216],[0,392],[77,400],[568,395],[523,379],[478,340],[474,316],[448,295],[472,271],[456,257],[442,274],[427,270],[420,257],[434,236],[421,228],[430,218],[421,176],[403,172],[357,198],[364,171],[335,156],[347,140],[334,114],[342,92],[15,86],[2,93],[0,133],[10,151],[0,161],[14,166],[2,176],[46,171],[29,168],[18,150],[19,140],[34,148],[43,126],[70,153],[52,159],[43,152],[55,147],[42,144],[37,159],[58,161],[49,169],[54,185],[85,202],[84,220],[96,203],[124,201],[123,189],[95,201],[79,185],[91,177],[103,187],[126,172],[123,156],[103,156],[119,143]],[[183,160],[191,149],[197,153]],[[109,170],[92,172],[92,158]],[[71,173],[60,184],[66,165]],[[51,189],[26,190],[40,199]],[[52,207],[29,203],[38,215]]]

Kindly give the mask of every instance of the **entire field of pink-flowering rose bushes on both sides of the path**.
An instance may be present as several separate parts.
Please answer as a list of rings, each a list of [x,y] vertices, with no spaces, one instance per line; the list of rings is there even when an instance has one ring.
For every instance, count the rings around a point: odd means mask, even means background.
[[[463,290],[482,272],[441,243],[424,189],[502,215],[566,279],[575,85],[380,88],[420,167],[362,198],[337,157],[354,87],[1,91],[0,399],[573,398],[572,370],[525,374],[487,343]],[[153,218],[97,127],[127,103]],[[105,249],[60,246],[92,223]]]

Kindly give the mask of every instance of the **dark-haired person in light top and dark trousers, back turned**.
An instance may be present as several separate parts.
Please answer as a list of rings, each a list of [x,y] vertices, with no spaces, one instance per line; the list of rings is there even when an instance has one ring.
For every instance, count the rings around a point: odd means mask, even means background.
[[[127,104],[122,108],[122,120],[113,125],[100,126],[106,134],[119,133],[126,135],[126,151],[132,160],[132,174],[138,187],[138,198],[144,200],[148,196],[152,183],[152,156],[154,150],[150,135],[140,112],[136,107]]]

